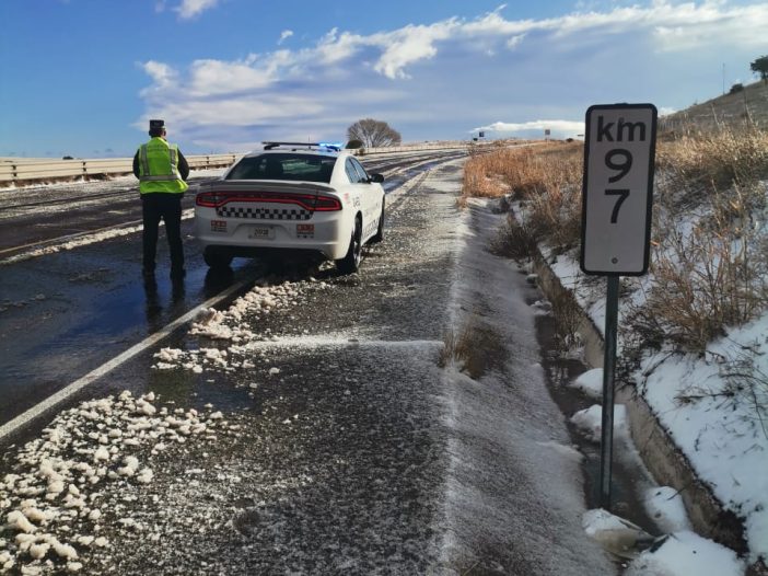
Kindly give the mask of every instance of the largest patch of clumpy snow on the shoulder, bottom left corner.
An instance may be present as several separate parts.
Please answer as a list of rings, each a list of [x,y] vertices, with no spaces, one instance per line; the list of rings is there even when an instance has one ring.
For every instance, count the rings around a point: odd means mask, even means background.
[[[0,574],[77,573],[98,549],[109,549],[115,532],[160,537],[154,527],[121,517],[124,503],[141,498],[159,454],[214,441],[229,423],[210,408],[156,401],[151,392],[125,391],[83,402],[16,452],[0,481]],[[126,495],[131,487],[138,495]]]

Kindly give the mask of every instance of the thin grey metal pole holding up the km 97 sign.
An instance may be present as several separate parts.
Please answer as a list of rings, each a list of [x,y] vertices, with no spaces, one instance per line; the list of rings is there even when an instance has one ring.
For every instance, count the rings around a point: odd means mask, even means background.
[[[610,510],[610,468],[614,456],[614,390],[619,277],[608,276],[605,302],[605,356],[603,359],[603,427],[600,443],[600,505]]]

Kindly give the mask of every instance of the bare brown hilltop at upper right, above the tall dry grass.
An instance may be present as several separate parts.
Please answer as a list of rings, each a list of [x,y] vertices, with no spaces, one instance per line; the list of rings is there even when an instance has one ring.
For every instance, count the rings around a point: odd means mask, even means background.
[[[768,130],[768,83],[759,80],[743,90],[694,104],[659,118],[662,131],[711,130],[723,127],[743,128],[749,123]]]

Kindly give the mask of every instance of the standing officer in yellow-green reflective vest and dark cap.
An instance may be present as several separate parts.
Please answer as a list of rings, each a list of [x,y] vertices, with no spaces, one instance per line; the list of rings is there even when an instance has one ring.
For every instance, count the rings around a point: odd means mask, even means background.
[[[165,221],[165,235],[171,249],[171,278],[184,277],[182,245],[182,197],[189,186],[189,164],[178,149],[165,139],[165,122],[150,120],[152,139],[139,147],[133,157],[133,174],[139,178],[143,212],[143,275],[154,278],[160,219]]]

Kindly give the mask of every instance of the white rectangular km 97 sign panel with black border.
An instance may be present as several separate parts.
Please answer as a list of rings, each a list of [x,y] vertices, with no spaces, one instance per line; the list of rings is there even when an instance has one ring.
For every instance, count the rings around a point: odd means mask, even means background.
[[[656,108],[612,104],[586,111],[581,269],[648,272]]]

